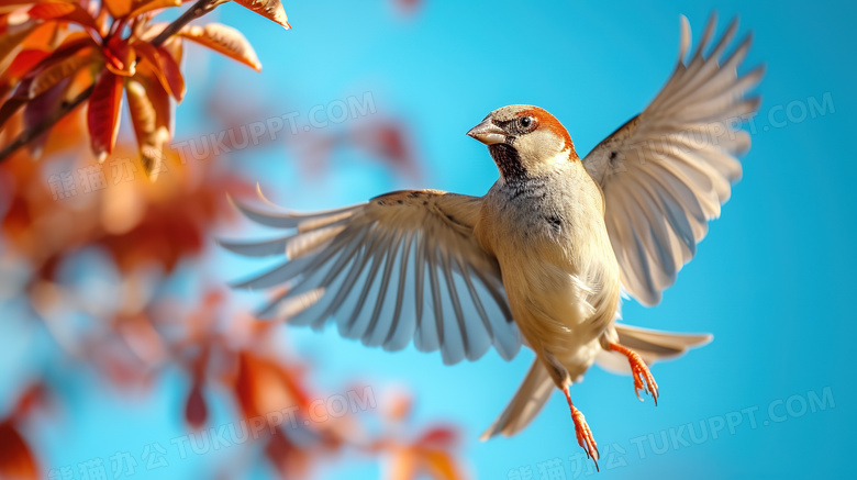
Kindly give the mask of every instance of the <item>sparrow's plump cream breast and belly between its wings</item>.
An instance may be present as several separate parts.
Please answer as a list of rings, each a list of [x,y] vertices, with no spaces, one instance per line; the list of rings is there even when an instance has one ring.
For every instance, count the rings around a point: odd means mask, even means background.
[[[534,349],[568,359],[569,371],[587,365],[582,357],[591,360],[582,351],[597,344],[619,304],[619,266],[600,192],[588,188],[568,178],[499,182],[477,224],[483,247],[498,258],[521,332]]]

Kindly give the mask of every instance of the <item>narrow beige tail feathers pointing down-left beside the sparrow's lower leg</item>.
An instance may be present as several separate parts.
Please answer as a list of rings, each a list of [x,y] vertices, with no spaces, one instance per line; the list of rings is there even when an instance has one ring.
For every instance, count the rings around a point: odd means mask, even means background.
[[[538,358],[533,359],[533,366],[512,401],[479,438],[487,440],[497,434],[509,437],[521,432],[542,411],[555,388],[554,380]]]

